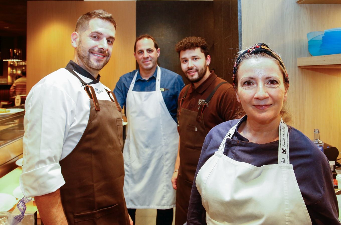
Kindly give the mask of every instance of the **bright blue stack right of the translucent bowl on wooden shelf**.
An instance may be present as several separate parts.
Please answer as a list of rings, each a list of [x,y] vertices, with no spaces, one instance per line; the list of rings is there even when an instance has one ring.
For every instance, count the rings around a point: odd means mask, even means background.
[[[341,28],[333,28],[324,31],[319,52],[322,55],[341,53]]]

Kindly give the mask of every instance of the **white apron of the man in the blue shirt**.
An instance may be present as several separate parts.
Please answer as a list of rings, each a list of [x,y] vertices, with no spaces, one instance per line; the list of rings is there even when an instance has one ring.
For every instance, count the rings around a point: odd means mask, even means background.
[[[172,175],[178,151],[177,123],[160,91],[158,66],[155,91],[133,91],[137,71],[127,94],[128,133],[123,148],[124,197],[127,208],[170,209],[175,206]]]

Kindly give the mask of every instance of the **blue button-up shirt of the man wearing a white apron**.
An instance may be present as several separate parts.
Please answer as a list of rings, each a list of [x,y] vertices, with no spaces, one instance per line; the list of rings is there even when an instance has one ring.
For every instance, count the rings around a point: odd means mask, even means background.
[[[182,77],[179,74],[164,69],[162,67],[160,67],[160,69],[161,69],[160,88],[163,88],[163,91],[161,91],[162,97],[167,106],[170,116],[172,116],[174,121],[177,123],[176,111],[178,108],[178,98],[181,89],[184,87],[184,83]],[[121,107],[124,106],[125,108],[125,114],[127,114],[126,102],[128,90],[131,82],[133,81],[136,71],[137,70],[133,70],[130,73],[122,75],[114,89],[114,93],[118,103],[121,105]],[[145,80],[141,77],[140,72],[138,70],[133,91],[155,91],[157,71],[158,70],[156,69],[154,74],[151,77],[149,77],[148,80]]]

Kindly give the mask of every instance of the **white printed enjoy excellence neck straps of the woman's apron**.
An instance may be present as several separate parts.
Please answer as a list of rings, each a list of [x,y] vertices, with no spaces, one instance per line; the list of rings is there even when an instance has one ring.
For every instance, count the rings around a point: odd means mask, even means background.
[[[241,118],[239,120],[239,122],[234,125],[225,135],[223,141],[221,142],[219,149],[217,152],[223,154],[224,149],[225,149],[225,143],[226,143],[226,139],[229,138],[231,139],[232,136],[234,135],[234,133],[236,132],[236,128],[237,126],[241,123],[241,121],[243,121],[244,117],[246,117],[247,115],[243,116],[243,118]],[[278,128],[278,164],[289,164],[290,160],[289,160],[289,132],[288,132],[288,126],[285,124],[285,122],[282,120],[281,118],[281,122],[279,124],[279,128]]]

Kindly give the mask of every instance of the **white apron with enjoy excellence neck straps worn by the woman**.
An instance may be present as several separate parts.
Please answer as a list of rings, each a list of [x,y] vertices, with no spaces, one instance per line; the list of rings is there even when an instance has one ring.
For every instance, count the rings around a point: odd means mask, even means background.
[[[206,209],[206,223],[311,224],[289,164],[287,125],[281,119],[278,164],[255,167],[223,154],[226,139],[231,139],[240,121],[197,174],[195,183]]]

